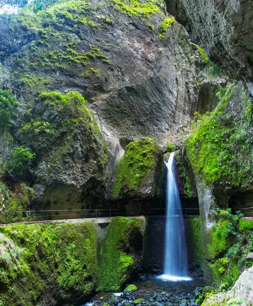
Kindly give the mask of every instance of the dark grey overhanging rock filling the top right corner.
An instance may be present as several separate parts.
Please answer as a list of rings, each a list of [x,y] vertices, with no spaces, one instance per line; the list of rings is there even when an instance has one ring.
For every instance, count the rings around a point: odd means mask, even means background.
[[[250,0],[167,0],[167,11],[185,25],[233,78],[253,80],[253,12]]]

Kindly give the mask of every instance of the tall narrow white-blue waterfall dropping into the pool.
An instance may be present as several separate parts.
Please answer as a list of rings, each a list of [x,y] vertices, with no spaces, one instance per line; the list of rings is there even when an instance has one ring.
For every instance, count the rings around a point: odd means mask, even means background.
[[[184,221],[178,187],[174,175],[174,152],[171,152],[167,167],[166,188],[166,234],[164,274],[158,276],[164,281],[191,281],[188,276]]]

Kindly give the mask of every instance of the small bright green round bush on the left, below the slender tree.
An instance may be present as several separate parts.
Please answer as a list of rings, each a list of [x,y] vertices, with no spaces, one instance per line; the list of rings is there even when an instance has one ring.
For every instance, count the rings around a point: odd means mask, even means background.
[[[14,148],[7,162],[6,169],[20,172],[22,166],[30,163],[34,157],[35,154],[31,153],[29,148],[24,148],[22,146]]]

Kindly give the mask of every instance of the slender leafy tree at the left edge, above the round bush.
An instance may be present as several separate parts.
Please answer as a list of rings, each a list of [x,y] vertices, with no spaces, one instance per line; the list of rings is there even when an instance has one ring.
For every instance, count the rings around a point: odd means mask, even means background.
[[[2,151],[2,167],[5,163],[5,150],[10,139],[7,134],[9,127],[12,125],[11,120],[18,117],[15,108],[18,106],[18,101],[12,95],[10,90],[0,90],[0,130],[2,132],[3,151]]]

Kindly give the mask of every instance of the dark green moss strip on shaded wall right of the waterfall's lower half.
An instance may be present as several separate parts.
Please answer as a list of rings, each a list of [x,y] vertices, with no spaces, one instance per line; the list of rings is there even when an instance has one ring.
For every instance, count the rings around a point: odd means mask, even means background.
[[[200,228],[200,219],[189,218],[187,220],[189,226],[189,245],[191,248],[191,267],[197,269],[202,267],[204,261],[203,254],[203,238]]]

